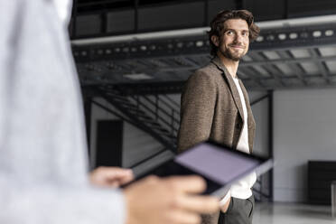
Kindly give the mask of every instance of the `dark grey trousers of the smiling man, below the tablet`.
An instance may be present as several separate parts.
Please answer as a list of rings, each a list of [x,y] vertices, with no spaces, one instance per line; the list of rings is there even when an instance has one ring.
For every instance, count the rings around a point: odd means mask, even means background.
[[[219,224],[252,224],[254,209],[253,195],[246,200],[231,198],[227,212],[220,211]]]

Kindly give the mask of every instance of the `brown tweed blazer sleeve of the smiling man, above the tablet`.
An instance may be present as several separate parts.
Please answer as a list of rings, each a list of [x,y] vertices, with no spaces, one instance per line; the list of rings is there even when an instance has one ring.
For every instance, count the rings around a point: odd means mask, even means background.
[[[209,139],[216,98],[217,86],[210,74],[198,70],[187,80],[181,98],[179,153]]]

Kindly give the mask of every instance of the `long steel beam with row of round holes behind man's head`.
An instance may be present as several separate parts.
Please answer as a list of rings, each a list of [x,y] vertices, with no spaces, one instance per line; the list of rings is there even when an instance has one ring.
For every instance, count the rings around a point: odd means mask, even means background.
[[[300,26],[268,29],[260,33],[256,42],[250,44],[251,51],[293,50],[319,46],[336,46],[334,23],[319,26]],[[165,56],[200,55],[210,51],[205,33],[192,36],[162,37],[152,40],[137,39],[109,42],[72,42],[76,61],[126,60],[135,58],[157,58]]]

